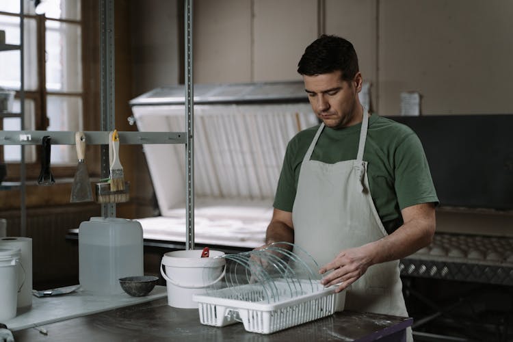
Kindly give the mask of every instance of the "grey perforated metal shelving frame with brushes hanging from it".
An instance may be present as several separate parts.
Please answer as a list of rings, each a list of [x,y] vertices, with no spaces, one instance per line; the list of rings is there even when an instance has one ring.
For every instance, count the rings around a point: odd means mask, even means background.
[[[187,158],[187,249],[194,248],[194,86],[192,78],[192,0],[185,1],[185,105],[186,127],[184,132],[118,132],[120,144],[185,144]],[[21,127],[23,120],[23,0],[21,2],[21,44],[6,44],[0,51],[21,51]],[[108,135],[114,131],[114,0],[99,0],[101,18],[101,131],[84,132],[88,144],[101,145],[101,176],[109,176]],[[6,114],[9,115],[9,114]],[[12,114],[13,116],[16,114]],[[4,116],[5,117],[5,116]],[[52,144],[75,144],[73,131],[1,131],[0,145],[21,145],[21,235],[26,235],[25,208],[25,153],[23,146],[40,144],[44,135],[50,135]],[[104,217],[114,217],[114,203],[102,205]]]

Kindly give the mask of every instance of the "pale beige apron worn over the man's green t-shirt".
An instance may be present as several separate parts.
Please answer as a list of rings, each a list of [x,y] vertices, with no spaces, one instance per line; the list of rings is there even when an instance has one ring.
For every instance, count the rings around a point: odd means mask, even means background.
[[[294,244],[311,254],[319,266],[341,250],[362,246],[387,233],[369,192],[363,151],[369,116],[364,109],[356,160],[328,164],[311,160],[321,124],[304,156],[292,209]],[[343,148],[343,146],[341,146]],[[399,278],[399,261],[372,265],[347,290],[345,309],[408,316]],[[412,341],[411,331],[408,340]]]

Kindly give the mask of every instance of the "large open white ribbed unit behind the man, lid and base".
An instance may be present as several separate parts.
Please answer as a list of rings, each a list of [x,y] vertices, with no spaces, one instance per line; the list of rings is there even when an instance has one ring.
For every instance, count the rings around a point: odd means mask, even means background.
[[[134,98],[139,131],[185,129],[183,86]],[[261,246],[287,142],[317,124],[302,81],[194,87],[194,241]],[[185,241],[185,148],[145,145],[161,215],[142,218],[144,237]]]

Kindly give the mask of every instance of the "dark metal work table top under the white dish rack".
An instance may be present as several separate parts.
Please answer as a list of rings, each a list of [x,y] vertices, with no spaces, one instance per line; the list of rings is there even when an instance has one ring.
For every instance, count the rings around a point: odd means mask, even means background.
[[[200,324],[197,309],[168,306],[167,298],[76,317],[14,332],[23,341],[404,341],[412,319],[343,311],[274,334],[246,332],[243,324],[224,328]]]

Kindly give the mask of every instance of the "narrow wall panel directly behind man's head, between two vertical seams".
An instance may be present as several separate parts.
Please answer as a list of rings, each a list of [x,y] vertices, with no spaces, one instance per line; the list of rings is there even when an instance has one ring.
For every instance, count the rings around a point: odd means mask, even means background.
[[[352,42],[363,79],[371,83],[373,109],[376,109],[378,94],[376,10],[376,0],[326,0],[324,14],[324,33],[335,34]]]

